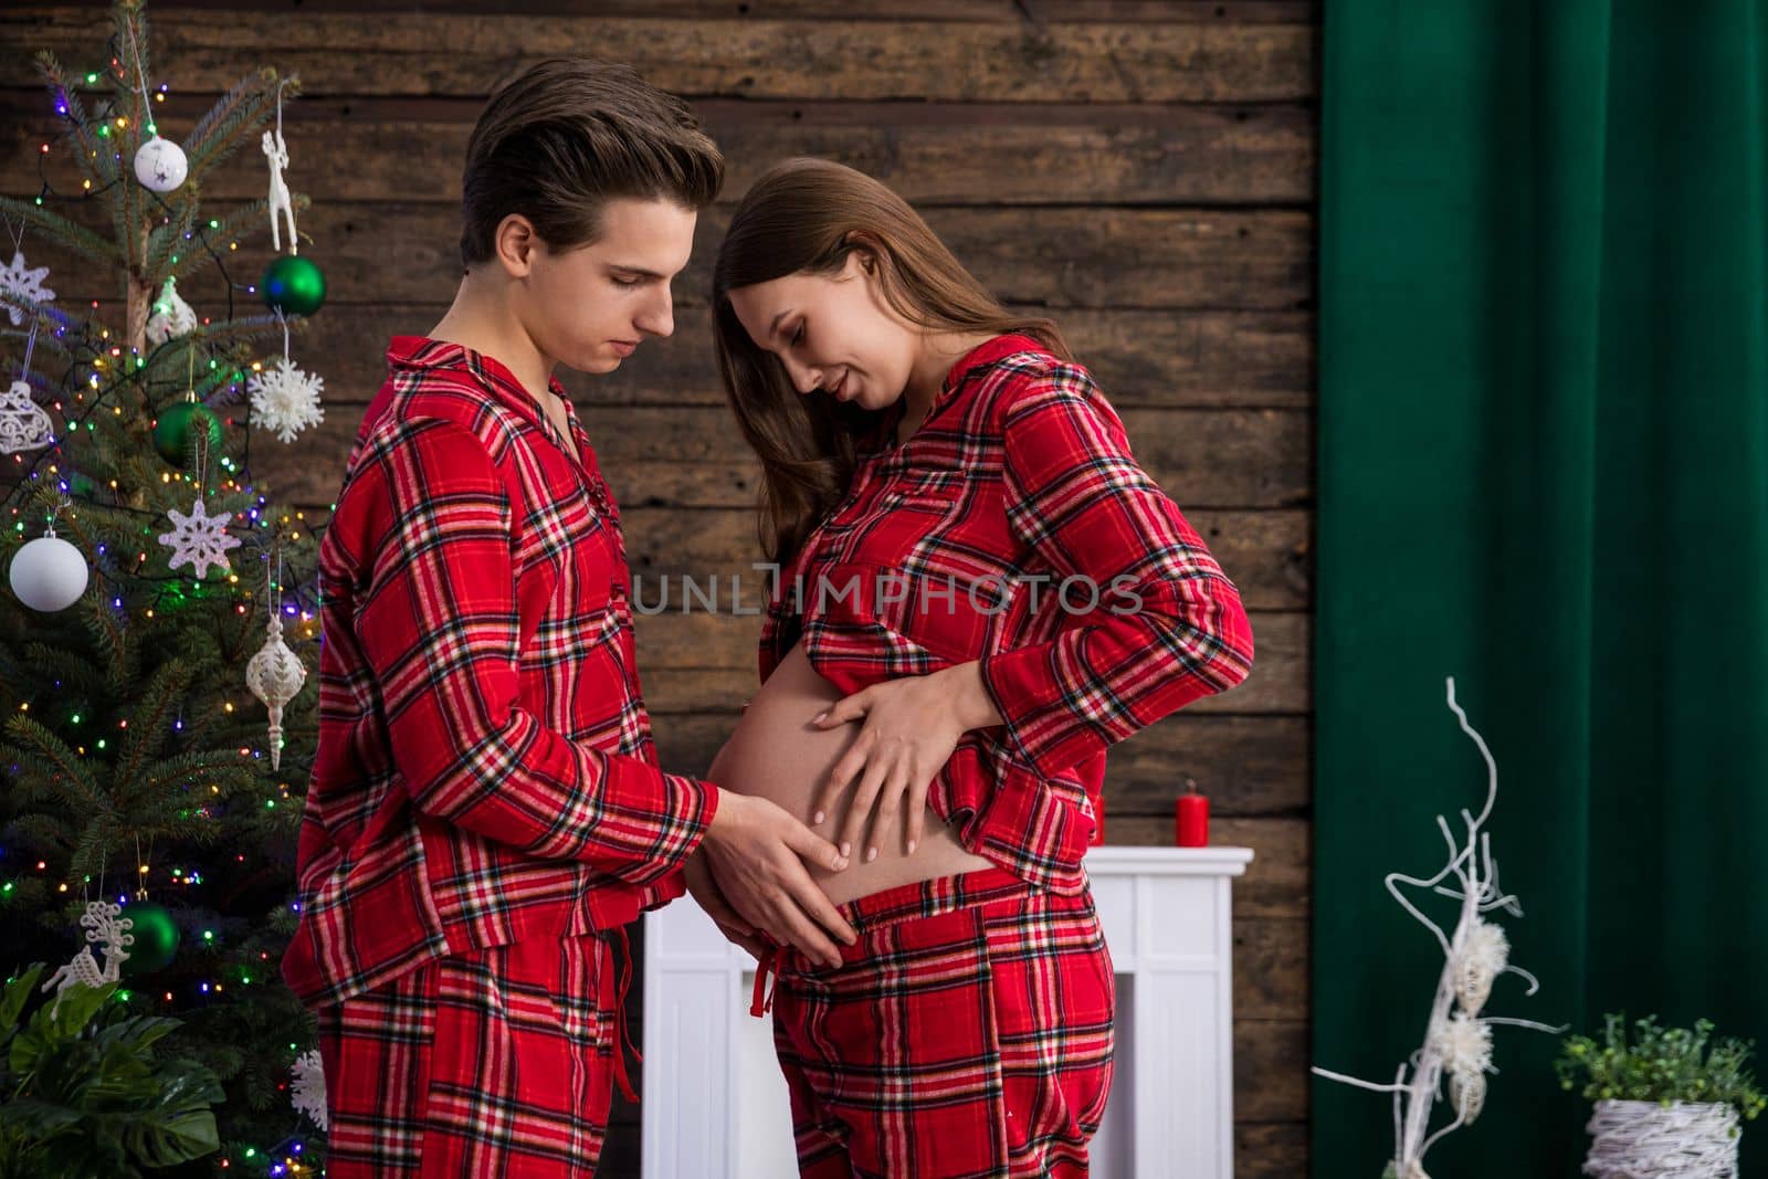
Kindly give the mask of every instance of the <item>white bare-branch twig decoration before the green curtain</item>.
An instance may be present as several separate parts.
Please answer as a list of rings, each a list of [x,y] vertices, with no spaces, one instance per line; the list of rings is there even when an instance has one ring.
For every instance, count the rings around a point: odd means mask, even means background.
[[[1517,898],[1497,886],[1492,836],[1483,831],[1485,820],[1492,817],[1492,804],[1497,801],[1497,762],[1492,760],[1485,739],[1467,723],[1467,714],[1455,704],[1453,677],[1448,679],[1448,707],[1460,721],[1462,732],[1478,746],[1480,757],[1485,758],[1485,806],[1478,815],[1460,811],[1466,836],[1459,843],[1448,820],[1437,815],[1437,829],[1443,833],[1443,841],[1448,843],[1448,864],[1441,871],[1434,877],[1409,877],[1395,871],[1384,882],[1400,909],[1430,930],[1437,946],[1443,947],[1443,972],[1437,976],[1436,1000],[1430,1004],[1423,1046],[1400,1064],[1391,1084],[1345,1076],[1322,1068],[1314,1069],[1315,1075],[1328,1080],[1393,1094],[1391,1174],[1398,1179],[1429,1179],[1423,1168],[1425,1151],[1443,1135],[1480,1115],[1480,1108],[1485,1105],[1485,1076],[1497,1071],[1492,1068],[1490,1029],[1494,1025],[1531,1027],[1540,1032],[1566,1031],[1535,1020],[1480,1015],[1492,992],[1492,983],[1499,976],[1515,974],[1526,979],[1529,985],[1526,993],[1529,995],[1540,990],[1540,983],[1522,967],[1510,965],[1510,942],[1505,939],[1505,932],[1485,919],[1487,914],[1497,910],[1512,917],[1522,916]],[[1448,884],[1450,879],[1453,884]],[[1455,932],[1444,933],[1443,926],[1427,917],[1400,891],[1402,884],[1460,901]],[[1441,1094],[1444,1073],[1448,1075],[1448,1098],[1455,1108],[1455,1119],[1430,1133],[1430,1108]]]

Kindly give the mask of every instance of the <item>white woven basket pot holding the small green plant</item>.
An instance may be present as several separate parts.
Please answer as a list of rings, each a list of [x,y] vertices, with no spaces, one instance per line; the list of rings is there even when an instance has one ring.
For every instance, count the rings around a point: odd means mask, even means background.
[[[1597,1179],[1736,1179],[1738,1110],[1720,1101],[1597,1101],[1584,1174]]]

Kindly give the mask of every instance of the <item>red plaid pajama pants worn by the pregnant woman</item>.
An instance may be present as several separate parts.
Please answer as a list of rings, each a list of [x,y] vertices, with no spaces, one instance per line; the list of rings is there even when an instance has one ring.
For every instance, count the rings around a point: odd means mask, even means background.
[[[774,1048],[801,1175],[1086,1175],[1112,1080],[1112,965],[1091,893],[999,870],[842,905],[829,969],[783,949]]]

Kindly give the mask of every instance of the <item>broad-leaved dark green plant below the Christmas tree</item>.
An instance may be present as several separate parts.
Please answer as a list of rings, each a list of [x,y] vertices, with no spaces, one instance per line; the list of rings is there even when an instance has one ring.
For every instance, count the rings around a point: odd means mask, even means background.
[[[219,1147],[221,1084],[154,1043],[179,1020],[129,1015],[117,983],[37,997],[42,963],[0,992],[0,1179],[140,1175]]]

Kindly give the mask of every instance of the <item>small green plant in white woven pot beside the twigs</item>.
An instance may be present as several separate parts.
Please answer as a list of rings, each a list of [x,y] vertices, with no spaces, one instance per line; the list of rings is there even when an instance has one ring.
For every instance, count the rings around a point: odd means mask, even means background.
[[[1561,1087],[1597,1103],[1584,1174],[1598,1179],[1726,1179],[1738,1174],[1741,1121],[1768,1105],[1749,1071],[1752,1045],[1711,1041],[1713,1023],[1658,1027],[1604,1016],[1602,1039],[1566,1036]]]

